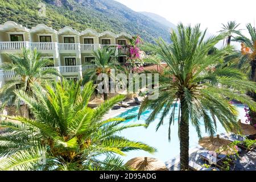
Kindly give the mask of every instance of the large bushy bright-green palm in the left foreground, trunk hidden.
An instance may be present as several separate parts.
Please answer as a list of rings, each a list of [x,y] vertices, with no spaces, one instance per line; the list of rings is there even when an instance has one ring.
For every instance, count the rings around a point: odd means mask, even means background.
[[[123,96],[90,109],[94,86],[88,82],[81,90],[80,85],[64,80],[42,88],[35,82],[35,97],[15,91],[35,119],[7,116],[11,120],[1,122],[6,130],[0,135],[0,170],[121,170],[127,168],[114,154],[155,152],[147,144],[118,136],[119,131],[144,125],[129,125],[126,118],[102,119]]]

